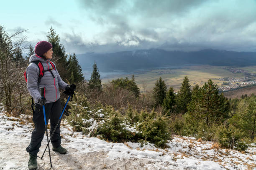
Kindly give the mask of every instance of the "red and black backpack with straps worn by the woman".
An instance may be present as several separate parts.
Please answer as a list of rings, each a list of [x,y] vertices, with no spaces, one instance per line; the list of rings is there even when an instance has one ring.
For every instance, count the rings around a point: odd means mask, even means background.
[[[36,61],[32,61],[33,63],[35,63],[37,66],[38,66],[38,68],[39,68],[39,75],[38,75],[38,79],[37,79],[37,82],[38,83],[40,83],[40,81],[41,81],[41,78],[44,76],[44,72],[46,72],[46,71],[50,71],[51,72],[51,70],[52,70],[52,68],[54,69],[54,70],[56,70],[56,68],[54,67],[54,64],[50,61],[50,64],[51,64],[51,69],[49,69],[49,70],[44,70],[44,66],[42,65],[42,63],[41,63],[41,61],[39,61],[39,60],[36,60]],[[52,75],[52,77],[54,77],[54,75],[53,75],[53,73],[51,72],[51,75]],[[25,77],[25,80],[26,80],[26,82],[28,81],[27,80],[27,71],[25,71],[24,72],[24,77]],[[55,77],[54,77],[55,78]],[[32,108],[32,111],[33,111],[33,113],[34,113],[34,99],[33,99],[33,97],[32,97],[32,104],[31,104],[31,108]]]

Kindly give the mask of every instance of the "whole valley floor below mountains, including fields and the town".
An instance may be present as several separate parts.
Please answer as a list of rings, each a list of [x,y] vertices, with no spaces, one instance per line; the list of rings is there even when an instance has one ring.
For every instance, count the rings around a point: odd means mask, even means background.
[[[134,75],[135,81],[140,87],[141,92],[152,90],[156,80],[161,77],[167,87],[173,87],[177,92],[184,76],[189,77],[191,86],[196,84],[202,87],[207,80],[211,79],[218,85],[219,90],[227,92],[242,87],[256,85],[256,66],[230,67],[230,66],[211,66],[211,65],[190,65],[164,68],[152,68],[147,70],[133,70],[109,72],[104,74],[102,82],[107,83],[111,80]],[[100,74],[102,74],[100,72]]]

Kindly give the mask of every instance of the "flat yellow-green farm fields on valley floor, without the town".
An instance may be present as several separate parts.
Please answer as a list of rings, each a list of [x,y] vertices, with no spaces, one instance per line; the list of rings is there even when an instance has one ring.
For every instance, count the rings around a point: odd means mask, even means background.
[[[256,70],[256,66],[250,66],[250,67],[239,67],[239,69],[247,70],[248,72]],[[138,74],[134,75],[135,81],[138,84],[138,87],[141,88],[141,91],[143,91],[143,83],[146,85],[145,91],[151,90],[156,80],[161,77],[167,87],[172,86],[174,88],[174,91],[177,92],[179,90],[179,87],[181,85],[181,82],[184,78],[184,76],[189,77],[189,82],[192,86],[195,84],[198,84],[200,87],[204,85],[207,80],[211,79],[215,84],[217,84],[219,87],[225,86],[222,85],[223,82],[219,80],[222,77],[233,77],[235,79],[244,78],[246,75],[243,73],[233,73],[230,70],[226,69],[225,66],[210,66],[210,65],[198,65],[198,66],[183,66],[179,67],[177,69],[173,68],[166,68],[166,69],[156,69],[156,70],[148,70],[148,71],[141,71],[138,72]],[[108,81],[111,81],[113,79],[117,79],[120,77],[128,77],[131,78],[132,75],[120,75],[116,77],[106,78],[102,79],[103,83],[106,83]]]

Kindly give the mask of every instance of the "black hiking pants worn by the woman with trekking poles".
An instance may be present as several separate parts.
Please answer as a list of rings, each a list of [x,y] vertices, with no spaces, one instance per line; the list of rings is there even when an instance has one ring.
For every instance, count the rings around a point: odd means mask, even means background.
[[[33,113],[33,122],[35,124],[35,129],[32,132],[31,135],[31,142],[26,148],[27,152],[36,155],[39,152],[39,148],[41,146],[41,142],[44,138],[45,133],[45,124],[44,124],[44,111],[43,106],[39,104],[35,104],[35,111]],[[61,115],[61,103],[60,99],[56,102],[47,103],[45,105],[45,114],[46,114],[46,122],[48,124],[48,120],[50,118],[50,124],[51,124],[51,131],[50,134],[53,132],[55,125],[59,121],[59,117]],[[59,125],[57,126],[54,135],[51,138],[51,144],[54,148],[57,148],[61,144],[61,137],[59,135]],[[48,134],[49,135],[49,134]],[[50,137],[49,137],[50,139]],[[45,143],[45,146],[47,143]]]

